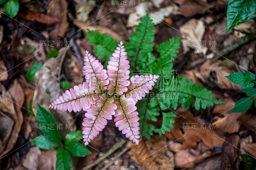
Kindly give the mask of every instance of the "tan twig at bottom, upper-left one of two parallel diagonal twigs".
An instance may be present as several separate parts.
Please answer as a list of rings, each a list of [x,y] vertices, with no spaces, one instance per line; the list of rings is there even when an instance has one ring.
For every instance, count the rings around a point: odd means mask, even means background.
[[[107,157],[109,157],[112,153],[114,153],[117,149],[121,148],[124,143],[126,143],[126,141],[124,139],[121,139],[118,143],[115,143],[110,150],[105,153],[105,155],[102,155],[100,158],[98,158],[96,161],[94,161],[93,163],[91,163],[88,166],[85,166],[82,170],[89,170],[91,169],[93,166],[98,165],[99,163],[101,163],[104,159],[106,159]],[[121,152],[120,152],[121,153]]]

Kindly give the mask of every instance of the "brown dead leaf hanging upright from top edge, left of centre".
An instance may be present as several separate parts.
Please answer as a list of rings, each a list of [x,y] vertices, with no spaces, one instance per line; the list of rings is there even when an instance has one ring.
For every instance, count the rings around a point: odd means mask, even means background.
[[[69,29],[68,24],[68,2],[65,0],[51,0],[47,5],[47,14],[60,19],[55,28],[50,32],[53,41],[60,40]]]

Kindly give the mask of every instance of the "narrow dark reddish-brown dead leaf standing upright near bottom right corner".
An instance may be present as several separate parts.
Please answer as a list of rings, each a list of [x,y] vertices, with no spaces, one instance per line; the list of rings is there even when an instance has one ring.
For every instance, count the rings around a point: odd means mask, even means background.
[[[236,148],[238,146],[240,137],[238,135],[232,135],[228,137],[227,142],[223,143],[223,151],[221,155],[220,169],[225,170],[226,167],[233,167],[236,155]],[[231,168],[234,169],[234,168]],[[235,168],[236,169],[236,168]]]

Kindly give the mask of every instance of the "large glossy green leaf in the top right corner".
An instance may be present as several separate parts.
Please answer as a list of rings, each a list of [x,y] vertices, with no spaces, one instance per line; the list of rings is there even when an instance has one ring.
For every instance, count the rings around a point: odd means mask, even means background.
[[[229,0],[227,10],[227,33],[238,24],[256,16],[255,0]]]

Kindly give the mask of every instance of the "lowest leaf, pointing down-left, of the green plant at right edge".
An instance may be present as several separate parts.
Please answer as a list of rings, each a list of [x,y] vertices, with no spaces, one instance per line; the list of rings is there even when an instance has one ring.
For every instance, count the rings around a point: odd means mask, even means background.
[[[238,112],[247,111],[248,109],[250,109],[250,107],[252,105],[252,101],[253,101],[253,98],[250,98],[250,97],[244,97],[244,98],[239,99],[236,102],[234,108],[228,114],[234,113],[234,112],[238,113]]]

